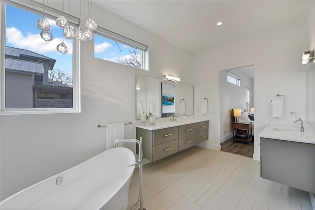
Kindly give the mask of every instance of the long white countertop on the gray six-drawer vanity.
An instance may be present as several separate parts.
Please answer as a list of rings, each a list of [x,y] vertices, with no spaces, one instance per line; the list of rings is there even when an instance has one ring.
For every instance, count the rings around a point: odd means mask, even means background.
[[[191,124],[191,123],[195,123],[195,122],[202,122],[202,121],[207,121],[209,119],[187,119],[187,120],[178,120],[178,121],[163,121],[163,122],[157,122],[156,125],[154,126],[150,126],[147,124],[137,124],[135,125],[135,127],[138,128],[143,128],[146,130],[158,130],[158,129],[163,129],[163,128],[168,128],[168,127],[175,127],[175,126],[180,126],[180,125],[186,125],[186,124]]]

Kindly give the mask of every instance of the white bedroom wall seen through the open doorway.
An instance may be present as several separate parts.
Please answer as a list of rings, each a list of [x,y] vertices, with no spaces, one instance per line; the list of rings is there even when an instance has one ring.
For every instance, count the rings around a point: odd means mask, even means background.
[[[219,72],[219,96],[220,96],[220,143],[232,136],[232,123],[234,108],[245,108],[245,89],[252,92],[252,79],[241,72],[240,68],[229,69],[229,72],[241,78],[240,86],[227,82],[227,70]],[[250,104],[251,106],[251,104]],[[249,110],[246,110],[249,112]],[[226,131],[224,133],[224,130]]]

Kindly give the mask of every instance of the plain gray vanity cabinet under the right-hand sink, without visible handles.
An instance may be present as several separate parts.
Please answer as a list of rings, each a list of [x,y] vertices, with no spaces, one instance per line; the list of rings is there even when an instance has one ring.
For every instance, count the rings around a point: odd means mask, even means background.
[[[260,177],[315,193],[315,144],[260,138]]]

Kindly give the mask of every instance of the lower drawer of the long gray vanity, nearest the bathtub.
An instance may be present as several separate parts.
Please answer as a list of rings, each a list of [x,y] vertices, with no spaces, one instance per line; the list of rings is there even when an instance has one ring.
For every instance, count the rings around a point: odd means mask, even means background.
[[[153,147],[153,161],[178,152],[178,139]]]

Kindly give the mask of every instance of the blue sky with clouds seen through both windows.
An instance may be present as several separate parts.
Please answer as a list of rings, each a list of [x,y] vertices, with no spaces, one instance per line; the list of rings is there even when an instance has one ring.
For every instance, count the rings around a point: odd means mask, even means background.
[[[48,20],[51,25],[50,32],[53,34],[53,40],[49,42],[44,41],[40,37],[41,30],[36,27],[36,22],[40,17],[38,14],[7,4],[6,46],[30,50],[56,59],[54,68],[59,68],[72,76],[72,40],[64,38],[68,53],[59,53],[56,47],[62,43],[63,29],[56,25],[55,20]],[[82,22],[85,23],[85,20]],[[86,26],[82,25],[81,30],[84,31],[86,29]],[[87,42],[94,44],[93,40],[87,40]],[[117,58],[124,59],[128,57],[128,49],[132,50],[132,48],[121,43],[117,44],[113,40],[95,35],[95,58],[117,62]]]

